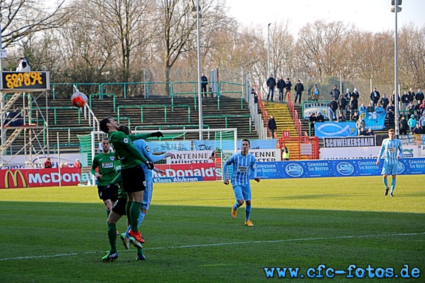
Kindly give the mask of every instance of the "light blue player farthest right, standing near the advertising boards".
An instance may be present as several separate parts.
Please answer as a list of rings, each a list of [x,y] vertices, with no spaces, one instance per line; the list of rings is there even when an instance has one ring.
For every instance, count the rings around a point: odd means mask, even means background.
[[[391,192],[389,193],[389,196],[394,196],[394,188],[395,188],[395,177],[397,175],[397,166],[398,166],[398,159],[400,159],[401,152],[403,149],[401,148],[401,141],[397,138],[395,138],[395,130],[390,128],[388,130],[388,138],[385,138],[382,140],[382,145],[380,147],[378,158],[376,159],[376,165],[379,165],[379,159],[382,157],[382,155],[385,153],[385,159],[383,161],[382,166],[382,181],[385,185],[385,193],[384,195],[388,194],[388,180],[386,179],[387,176],[390,174],[391,179]]]

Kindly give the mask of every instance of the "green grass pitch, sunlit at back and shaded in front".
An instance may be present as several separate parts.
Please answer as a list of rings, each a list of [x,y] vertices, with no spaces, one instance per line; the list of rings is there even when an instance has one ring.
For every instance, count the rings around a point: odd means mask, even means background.
[[[154,184],[140,229],[147,260],[134,260],[136,250],[117,239],[114,262],[101,261],[109,244],[95,187],[0,189],[0,282],[425,282],[423,176],[398,176],[394,197],[383,195],[379,176],[251,187],[254,226],[247,227],[244,205],[230,216],[231,185]],[[125,218],[117,228],[124,231]],[[420,277],[307,277],[319,264],[392,267],[394,275],[406,264]],[[266,278],[272,267],[298,267],[298,277],[275,270]]]

